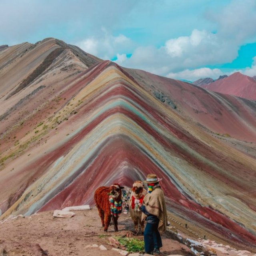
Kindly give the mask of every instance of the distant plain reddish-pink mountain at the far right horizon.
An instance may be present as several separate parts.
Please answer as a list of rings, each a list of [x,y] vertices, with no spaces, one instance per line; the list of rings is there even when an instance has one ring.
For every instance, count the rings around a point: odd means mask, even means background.
[[[236,72],[223,80],[203,85],[202,88],[248,100],[256,100],[256,80],[240,72]]]

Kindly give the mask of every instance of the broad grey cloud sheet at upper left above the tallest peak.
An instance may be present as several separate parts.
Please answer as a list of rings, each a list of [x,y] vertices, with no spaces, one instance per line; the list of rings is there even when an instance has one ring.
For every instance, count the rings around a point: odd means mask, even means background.
[[[102,24],[111,30],[138,1],[1,0],[0,44],[36,42],[46,37],[70,43],[70,38],[97,36]]]

